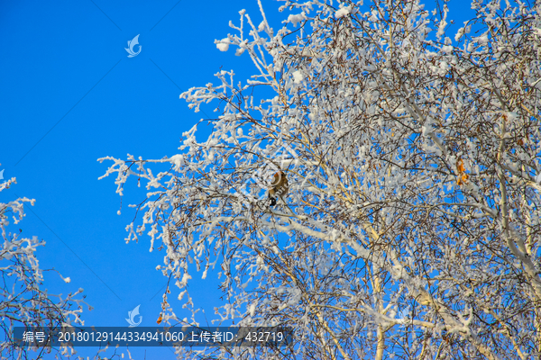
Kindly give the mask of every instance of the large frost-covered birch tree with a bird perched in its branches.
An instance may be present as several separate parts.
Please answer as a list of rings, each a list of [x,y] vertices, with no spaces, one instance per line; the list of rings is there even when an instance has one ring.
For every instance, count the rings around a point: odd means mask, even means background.
[[[215,109],[208,139],[100,159],[120,195],[146,183],[126,240],[164,252],[164,321],[197,324],[188,284],[212,275],[214,320],[296,340],[216,359],[541,356],[539,3],[474,0],[452,26],[453,2],[287,1],[277,31],[259,4],[215,41],[253,76],[180,95]]]

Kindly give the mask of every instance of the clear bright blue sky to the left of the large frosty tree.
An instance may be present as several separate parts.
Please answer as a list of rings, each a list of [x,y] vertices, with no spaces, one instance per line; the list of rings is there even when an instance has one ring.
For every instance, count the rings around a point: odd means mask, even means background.
[[[263,1],[275,30],[283,19],[280,4]],[[235,57],[233,48],[220,52],[214,40],[234,31],[227,24],[237,24],[243,8],[259,24],[257,2],[11,1],[0,6],[0,171],[17,178],[0,201],[36,199],[35,206],[25,206],[27,216],[18,227],[24,237],[46,241],[37,252],[41,268],[54,267],[71,278],[65,284],[47,273],[50,293],[85,289],[95,308],[85,309],[85,325],[125,326],[128,311],[141,304],[142,326],[151,326],[167,281],[155,270],[163,253],[150,253],[146,237],[138,244],[124,242],[124,228],[134,215],[127,205],[141,202],[145,190],[129,187],[122,215],[116,215],[120,199],[114,178],[97,180],[110,163],[96,159],[176,154],[182,132],[204,116],[189,110],[179,94],[215,82],[220,67],[233,68],[239,80],[252,70],[247,54]],[[142,51],[127,58],[124,48],[137,34]],[[209,318],[221,304],[216,285],[211,276],[190,285]],[[173,289],[170,297],[176,293]],[[188,316],[175,310],[179,318]],[[144,349],[134,354],[142,358]],[[167,349],[146,349],[147,359],[158,357],[174,356]]]

